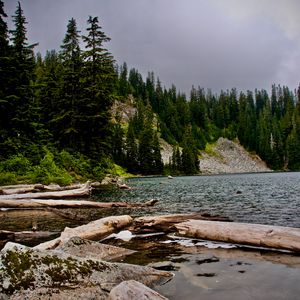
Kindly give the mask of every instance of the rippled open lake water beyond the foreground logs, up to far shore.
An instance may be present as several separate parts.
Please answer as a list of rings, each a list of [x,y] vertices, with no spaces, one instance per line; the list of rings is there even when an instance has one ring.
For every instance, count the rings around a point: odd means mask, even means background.
[[[158,199],[137,214],[208,212],[234,221],[300,227],[300,173],[135,178],[132,190],[106,192],[101,201]]]

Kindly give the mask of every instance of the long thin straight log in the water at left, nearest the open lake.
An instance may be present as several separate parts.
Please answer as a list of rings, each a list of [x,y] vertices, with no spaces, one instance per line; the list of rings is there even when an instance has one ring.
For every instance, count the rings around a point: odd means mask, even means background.
[[[55,199],[1,199],[2,208],[142,208],[153,206],[157,200],[150,200],[145,203],[127,203],[127,202],[95,202],[85,200],[55,200]]]

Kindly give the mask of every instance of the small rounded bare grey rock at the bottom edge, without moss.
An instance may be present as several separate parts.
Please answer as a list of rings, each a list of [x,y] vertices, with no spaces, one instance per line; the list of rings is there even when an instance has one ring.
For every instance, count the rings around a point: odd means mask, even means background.
[[[135,281],[128,280],[123,281],[116,287],[114,287],[110,293],[108,300],[168,300],[166,297],[160,295],[156,291],[150,289],[144,284]]]

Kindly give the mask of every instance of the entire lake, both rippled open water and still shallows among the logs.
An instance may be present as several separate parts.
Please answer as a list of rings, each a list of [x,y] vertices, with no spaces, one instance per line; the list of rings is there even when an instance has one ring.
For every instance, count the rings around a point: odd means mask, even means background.
[[[145,209],[78,210],[79,219],[51,212],[0,211],[0,229],[63,230],[111,214],[157,215],[200,212],[233,221],[300,227],[300,173],[146,177],[127,180],[131,190],[101,190],[95,201],[159,203]],[[80,213],[79,213],[80,212]],[[82,219],[82,220],[80,220]],[[22,222],[20,222],[22,220]],[[157,290],[172,300],[298,299],[300,256],[280,251],[184,239],[136,236],[106,243],[138,250],[124,262],[172,271],[174,278]]]

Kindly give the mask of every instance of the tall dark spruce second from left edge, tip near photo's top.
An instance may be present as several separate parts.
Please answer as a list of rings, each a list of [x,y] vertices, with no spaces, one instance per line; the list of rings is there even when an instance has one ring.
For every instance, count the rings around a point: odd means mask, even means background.
[[[30,152],[36,136],[35,130],[35,99],[34,87],[34,45],[28,45],[26,36],[26,18],[23,14],[20,2],[18,2],[13,23],[15,28],[10,31],[12,41],[12,61],[10,69],[13,76],[8,96],[11,108],[9,125],[11,127],[11,144],[14,151]]]

